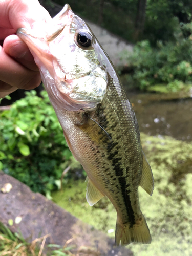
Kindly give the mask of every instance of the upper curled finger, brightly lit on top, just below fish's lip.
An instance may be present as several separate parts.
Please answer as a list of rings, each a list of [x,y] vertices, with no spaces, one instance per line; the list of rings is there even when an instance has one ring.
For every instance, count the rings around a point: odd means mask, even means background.
[[[38,71],[29,48],[17,35],[10,35],[4,40],[4,51],[24,67]]]

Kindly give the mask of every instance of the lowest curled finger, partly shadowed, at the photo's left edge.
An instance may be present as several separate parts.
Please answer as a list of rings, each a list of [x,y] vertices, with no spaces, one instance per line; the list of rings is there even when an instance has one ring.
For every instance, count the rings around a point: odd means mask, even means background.
[[[41,82],[39,72],[20,65],[7,55],[2,47],[0,47],[0,80],[20,89],[33,89]]]

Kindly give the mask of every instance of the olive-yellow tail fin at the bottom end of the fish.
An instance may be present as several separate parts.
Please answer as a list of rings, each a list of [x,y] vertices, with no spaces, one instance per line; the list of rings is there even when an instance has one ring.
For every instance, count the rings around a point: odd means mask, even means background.
[[[139,224],[134,224],[133,227],[130,227],[130,224],[123,225],[120,222],[116,223],[116,230],[115,230],[115,242],[116,245],[127,245],[132,242],[135,243],[143,243],[143,244],[150,244],[152,241],[150,230],[146,224],[145,217],[142,214],[142,220],[139,221]]]

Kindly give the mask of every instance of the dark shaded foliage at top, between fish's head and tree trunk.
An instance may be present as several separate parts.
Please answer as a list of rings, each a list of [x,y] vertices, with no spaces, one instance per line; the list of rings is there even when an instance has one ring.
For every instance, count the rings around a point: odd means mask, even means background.
[[[55,0],[61,6],[66,4],[64,0]],[[101,3],[103,7],[101,8]],[[137,1],[133,0],[69,0],[72,10],[83,19],[99,24],[105,29],[132,41],[134,31],[134,19],[137,12]],[[125,29],[126,28],[126,29]]]

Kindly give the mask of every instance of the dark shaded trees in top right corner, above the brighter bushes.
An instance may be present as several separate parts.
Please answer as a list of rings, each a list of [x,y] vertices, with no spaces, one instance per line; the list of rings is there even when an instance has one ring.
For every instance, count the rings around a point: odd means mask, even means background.
[[[144,38],[156,45],[158,40],[175,40],[180,24],[191,22],[190,0],[147,0]]]

